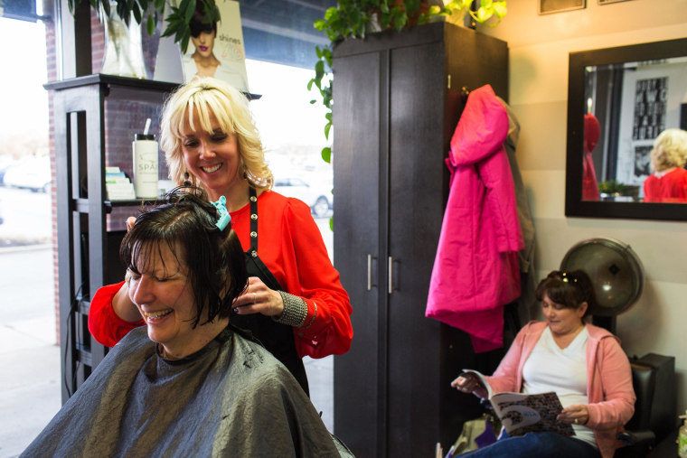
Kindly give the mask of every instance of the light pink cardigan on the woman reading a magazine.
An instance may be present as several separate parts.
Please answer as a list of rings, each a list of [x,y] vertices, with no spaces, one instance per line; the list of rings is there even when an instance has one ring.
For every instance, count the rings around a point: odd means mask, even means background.
[[[494,375],[486,378],[494,393],[520,392],[522,366],[547,326],[546,322],[529,322],[518,332]],[[592,324],[587,324],[587,331],[587,425],[594,430],[601,456],[610,458],[619,445],[616,433],[635,412],[632,369],[616,336]]]

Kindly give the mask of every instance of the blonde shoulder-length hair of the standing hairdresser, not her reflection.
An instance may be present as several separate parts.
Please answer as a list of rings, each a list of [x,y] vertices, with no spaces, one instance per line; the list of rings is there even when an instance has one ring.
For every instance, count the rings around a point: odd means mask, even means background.
[[[182,142],[184,126],[198,127],[212,134],[210,117],[214,115],[225,134],[236,135],[239,145],[240,170],[249,183],[257,189],[270,189],[274,182],[272,172],[265,163],[265,149],[258,128],[249,110],[249,99],[238,89],[213,78],[194,78],[175,89],[165,102],[160,123],[160,147],[169,165],[169,178],[177,185],[188,173],[184,165]],[[193,114],[197,113],[197,119]],[[202,186],[189,173],[193,185]]]

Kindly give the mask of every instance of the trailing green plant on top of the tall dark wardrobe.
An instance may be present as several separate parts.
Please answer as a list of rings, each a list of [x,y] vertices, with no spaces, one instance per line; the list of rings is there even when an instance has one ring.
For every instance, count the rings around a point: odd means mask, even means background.
[[[308,82],[313,86],[325,106],[325,138],[332,128],[332,57],[334,45],[348,39],[364,39],[366,33],[386,29],[401,31],[416,24],[448,20],[462,24],[466,14],[475,23],[495,27],[507,13],[505,0],[339,0],[326,10],[325,17],[314,23],[315,29],[325,32],[329,44],[315,46],[315,77]],[[317,100],[311,100],[315,104]],[[332,149],[325,146],[322,158],[331,163]]]

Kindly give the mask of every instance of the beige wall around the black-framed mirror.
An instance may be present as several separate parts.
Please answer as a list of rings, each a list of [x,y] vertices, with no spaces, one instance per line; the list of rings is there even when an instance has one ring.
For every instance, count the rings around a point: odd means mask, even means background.
[[[536,229],[538,276],[558,268],[584,238],[628,243],[645,266],[645,291],[620,315],[629,354],[673,355],[678,412],[687,408],[687,222],[598,220],[564,215],[568,53],[687,37],[687,0],[629,0],[537,14],[538,0],[510,0],[498,27],[510,48],[510,104],[521,126],[517,157]]]

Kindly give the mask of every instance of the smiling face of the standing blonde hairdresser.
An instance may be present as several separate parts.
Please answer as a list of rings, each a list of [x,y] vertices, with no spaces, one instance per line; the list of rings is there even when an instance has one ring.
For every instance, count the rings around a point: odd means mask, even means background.
[[[184,114],[184,119],[188,119]],[[186,123],[182,132],[184,164],[202,182],[202,187],[216,201],[221,195],[231,194],[237,183],[245,183],[240,174],[239,145],[234,134],[221,131],[216,117],[210,114],[212,133],[202,130],[197,110],[193,116],[196,130]]]

